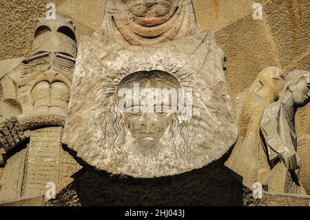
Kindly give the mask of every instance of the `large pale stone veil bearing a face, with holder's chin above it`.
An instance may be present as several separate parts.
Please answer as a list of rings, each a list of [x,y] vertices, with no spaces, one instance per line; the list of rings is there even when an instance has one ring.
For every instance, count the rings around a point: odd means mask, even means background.
[[[79,45],[63,143],[113,174],[201,168],[236,141],[224,68],[192,1],[107,1],[101,30]]]

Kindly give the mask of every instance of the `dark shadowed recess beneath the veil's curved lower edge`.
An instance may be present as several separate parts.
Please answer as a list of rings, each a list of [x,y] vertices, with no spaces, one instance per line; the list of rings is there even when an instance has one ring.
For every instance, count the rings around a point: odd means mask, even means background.
[[[49,203],[72,204],[77,195],[76,206],[242,206],[242,184],[227,174],[223,158],[205,168],[154,179],[111,175],[86,166]]]

